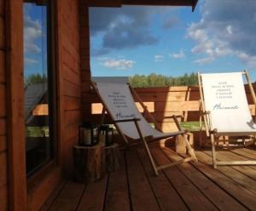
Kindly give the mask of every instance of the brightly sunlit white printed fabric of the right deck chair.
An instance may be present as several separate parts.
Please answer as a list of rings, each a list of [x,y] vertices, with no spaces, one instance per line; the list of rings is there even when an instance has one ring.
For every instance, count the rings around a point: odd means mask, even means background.
[[[242,72],[201,74],[202,92],[211,129],[218,134],[252,134],[256,124],[250,113]]]

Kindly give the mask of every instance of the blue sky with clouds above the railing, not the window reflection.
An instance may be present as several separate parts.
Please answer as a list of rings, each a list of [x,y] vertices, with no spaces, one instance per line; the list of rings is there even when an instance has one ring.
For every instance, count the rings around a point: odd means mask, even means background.
[[[92,76],[247,69],[256,80],[256,0],[90,8]]]

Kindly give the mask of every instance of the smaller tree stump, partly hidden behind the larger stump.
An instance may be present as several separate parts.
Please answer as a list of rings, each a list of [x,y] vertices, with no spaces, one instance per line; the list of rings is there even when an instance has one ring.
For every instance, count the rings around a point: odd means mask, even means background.
[[[120,167],[120,150],[118,144],[113,144],[105,147],[106,154],[106,170],[113,172]]]

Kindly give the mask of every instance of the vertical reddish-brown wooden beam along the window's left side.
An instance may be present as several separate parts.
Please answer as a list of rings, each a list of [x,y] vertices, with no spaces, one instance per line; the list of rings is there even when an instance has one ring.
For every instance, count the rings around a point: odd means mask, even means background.
[[[6,1],[9,210],[26,210],[23,1]]]

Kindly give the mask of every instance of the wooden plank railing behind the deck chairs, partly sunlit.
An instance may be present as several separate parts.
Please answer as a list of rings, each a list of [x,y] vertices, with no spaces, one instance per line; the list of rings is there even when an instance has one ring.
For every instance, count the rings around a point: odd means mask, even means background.
[[[247,85],[247,100],[252,115],[255,115],[255,106]],[[256,89],[253,84],[254,90]],[[137,94],[141,97],[148,110],[153,114],[160,124],[163,132],[176,130],[175,123],[171,117],[183,115],[179,118],[183,122],[199,121],[200,115],[200,94],[198,86],[190,87],[166,87],[166,88],[136,88]],[[91,114],[90,120],[98,122],[102,112],[102,104],[95,93],[90,94]],[[137,104],[140,111],[142,108]],[[108,119],[107,119],[108,121]]]

